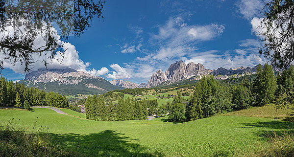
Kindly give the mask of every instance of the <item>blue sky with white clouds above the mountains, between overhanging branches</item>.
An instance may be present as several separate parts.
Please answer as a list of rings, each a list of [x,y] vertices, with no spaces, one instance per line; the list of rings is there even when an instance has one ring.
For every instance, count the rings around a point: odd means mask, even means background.
[[[261,0],[109,0],[104,20],[65,41],[68,57],[49,68],[141,83],[179,60],[209,69],[264,64],[255,35],[262,7]],[[33,71],[44,68],[35,60]],[[7,79],[25,77],[20,64],[5,65]]]

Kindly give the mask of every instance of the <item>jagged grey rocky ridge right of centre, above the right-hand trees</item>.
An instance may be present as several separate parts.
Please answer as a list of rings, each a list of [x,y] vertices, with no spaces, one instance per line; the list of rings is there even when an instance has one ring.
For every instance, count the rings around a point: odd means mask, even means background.
[[[256,73],[257,66],[254,67],[237,67],[225,69],[219,67],[217,70],[206,69],[202,64],[193,62],[186,65],[183,61],[177,61],[164,73],[161,69],[152,74],[147,83],[147,88],[157,85],[168,85],[181,80],[200,80],[202,76],[213,75],[215,79],[224,80],[228,78],[238,78],[244,75]]]

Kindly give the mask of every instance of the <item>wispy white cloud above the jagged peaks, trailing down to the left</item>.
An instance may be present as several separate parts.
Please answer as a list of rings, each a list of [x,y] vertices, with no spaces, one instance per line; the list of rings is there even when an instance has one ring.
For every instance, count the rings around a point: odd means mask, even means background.
[[[141,52],[146,55],[127,63],[125,69],[133,79],[147,81],[154,71],[159,68],[166,70],[171,63],[186,60],[196,53],[198,43],[213,40],[223,31],[224,26],[220,24],[188,25],[181,17],[170,18],[158,26],[158,32],[149,39],[149,44],[155,51],[145,52],[143,49]],[[128,47],[129,45],[124,46]]]

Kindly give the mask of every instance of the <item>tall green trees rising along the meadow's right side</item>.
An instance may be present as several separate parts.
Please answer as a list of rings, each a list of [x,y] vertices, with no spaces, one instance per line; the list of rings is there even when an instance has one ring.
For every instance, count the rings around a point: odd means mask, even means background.
[[[264,68],[258,65],[255,79],[252,82],[244,79],[238,86],[219,85],[213,76],[206,76],[196,84],[185,112],[182,112],[185,116],[170,119],[183,121],[186,118],[191,121],[220,112],[246,109],[249,106],[263,106],[270,103],[276,103],[278,106],[290,105],[294,100],[293,83],[293,66],[275,77],[270,65],[265,64]]]

